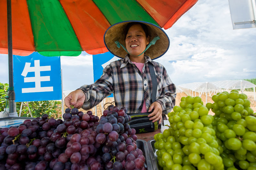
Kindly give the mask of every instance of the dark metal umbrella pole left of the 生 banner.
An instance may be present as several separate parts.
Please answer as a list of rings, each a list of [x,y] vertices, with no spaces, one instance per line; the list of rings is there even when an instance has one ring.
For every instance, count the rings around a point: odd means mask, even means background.
[[[9,64],[9,113],[16,112],[15,92],[13,87],[13,60],[12,60],[12,0],[7,0],[7,33],[8,33],[8,64]],[[9,117],[9,115],[8,115]]]

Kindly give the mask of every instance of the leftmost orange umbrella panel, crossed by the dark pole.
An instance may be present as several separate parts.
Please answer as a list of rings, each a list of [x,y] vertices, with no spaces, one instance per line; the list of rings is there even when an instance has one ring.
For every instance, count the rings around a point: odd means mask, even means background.
[[[0,54],[7,54],[6,1],[0,1],[0,11]],[[26,0],[12,0],[12,48],[16,55],[29,55],[36,50]]]

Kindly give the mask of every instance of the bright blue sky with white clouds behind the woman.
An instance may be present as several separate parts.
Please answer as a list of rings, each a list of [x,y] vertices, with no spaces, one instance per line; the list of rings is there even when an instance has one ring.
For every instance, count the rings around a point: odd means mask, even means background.
[[[170,48],[156,59],[175,85],[256,78],[256,28],[233,30],[228,0],[198,0],[169,29]],[[0,54],[0,82],[8,83]],[[93,83],[92,55],[61,56],[63,90]]]

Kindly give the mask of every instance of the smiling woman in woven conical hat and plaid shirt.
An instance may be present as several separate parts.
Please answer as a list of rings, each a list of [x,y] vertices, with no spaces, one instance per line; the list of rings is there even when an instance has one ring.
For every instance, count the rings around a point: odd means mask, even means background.
[[[176,88],[164,66],[152,59],[168,50],[168,36],[151,23],[124,21],[108,28],[104,42],[112,54],[122,59],[110,63],[94,84],[83,85],[71,92],[65,98],[65,105],[88,110],[114,93],[117,107],[126,107],[127,113],[152,112],[148,115],[149,120],[160,123],[175,105]],[[151,96],[149,63],[154,65],[157,79],[155,102]]]

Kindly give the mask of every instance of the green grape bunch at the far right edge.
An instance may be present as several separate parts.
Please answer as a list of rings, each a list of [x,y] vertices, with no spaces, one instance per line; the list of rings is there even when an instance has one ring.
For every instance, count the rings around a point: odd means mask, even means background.
[[[215,113],[212,122],[221,140],[224,167],[228,170],[256,170],[256,113],[250,100],[237,90],[217,93],[206,107]]]

